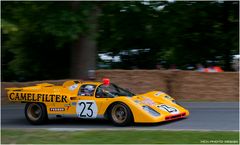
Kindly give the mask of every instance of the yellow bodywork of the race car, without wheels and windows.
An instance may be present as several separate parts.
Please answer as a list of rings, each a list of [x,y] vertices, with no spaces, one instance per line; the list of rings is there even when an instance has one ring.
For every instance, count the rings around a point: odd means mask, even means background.
[[[81,86],[88,84],[96,86],[93,96],[80,96],[78,92]],[[113,98],[97,98],[95,94],[100,85],[102,85],[100,82],[70,80],[66,81],[62,86],[42,83],[30,87],[7,88],[7,94],[10,101],[44,103],[48,115],[80,118],[104,117],[107,113],[107,109],[109,109],[111,104],[116,102],[126,104],[132,112],[134,122],[137,123],[168,121],[184,118],[189,115],[188,110],[176,104],[173,98],[163,92],[151,91],[132,97],[118,96]],[[81,102],[92,102],[93,105],[85,104],[85,110],[81,110],[83,109],[79,107]],[[152,115],[144,110],[143,106],[148,106],[155,110],[159,113],[159,116]],[[172,113],[171,109],[173,111],[175,109],[175,112]]]

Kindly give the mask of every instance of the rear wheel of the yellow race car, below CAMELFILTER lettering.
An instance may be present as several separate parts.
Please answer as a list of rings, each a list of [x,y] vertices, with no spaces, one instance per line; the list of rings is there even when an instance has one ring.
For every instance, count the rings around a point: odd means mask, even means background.
[[[48,120],[46,106],[43,103],[27,103],[25,117],[34,125],[44,124]]]

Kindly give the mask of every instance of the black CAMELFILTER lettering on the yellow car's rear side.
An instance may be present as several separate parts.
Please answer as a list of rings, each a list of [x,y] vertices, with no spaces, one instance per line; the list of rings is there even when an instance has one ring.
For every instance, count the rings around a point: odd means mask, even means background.
[[[66,102],[67,103],[67,96],[54,95],[54,94],[10,93],[8,98],[12,101]]]

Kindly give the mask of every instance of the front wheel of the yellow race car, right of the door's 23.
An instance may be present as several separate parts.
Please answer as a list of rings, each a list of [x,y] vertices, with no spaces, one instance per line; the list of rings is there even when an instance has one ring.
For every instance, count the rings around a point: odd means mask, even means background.
[[[128,126],[133,123],[132,112],[124,103],[113,104],[109,109],[108,116],[116,126]]]

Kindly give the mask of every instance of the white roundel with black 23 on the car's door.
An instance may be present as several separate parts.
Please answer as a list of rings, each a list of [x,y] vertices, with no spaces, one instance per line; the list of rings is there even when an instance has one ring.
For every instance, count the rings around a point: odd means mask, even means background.
[[[92,100],[78,101],[76,112],[79,118],[96,118],[98,113],[97,104]]]

